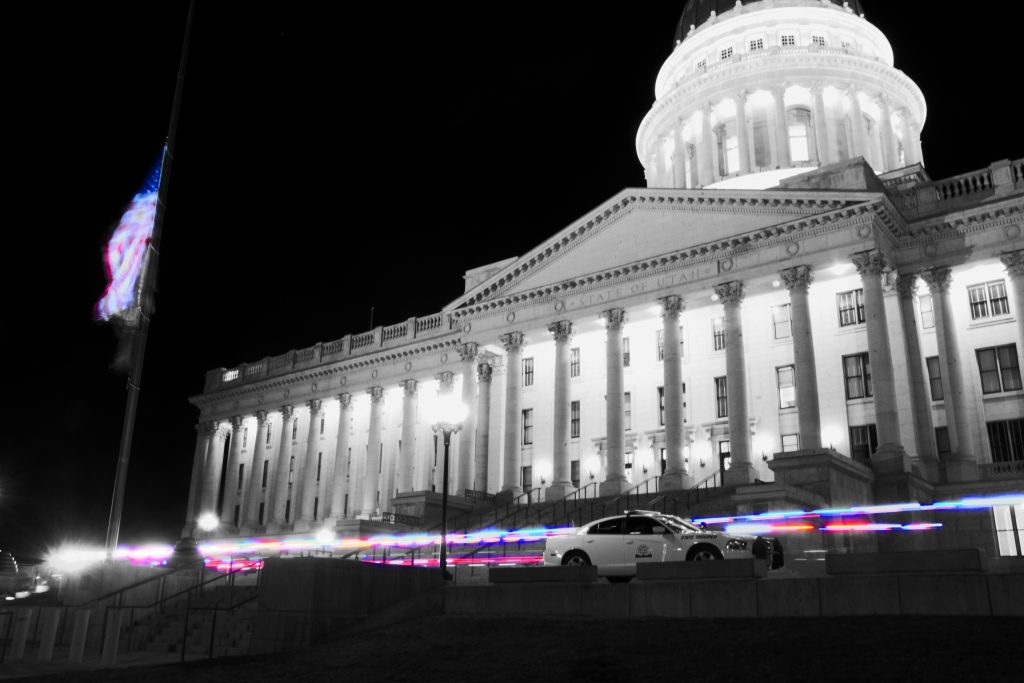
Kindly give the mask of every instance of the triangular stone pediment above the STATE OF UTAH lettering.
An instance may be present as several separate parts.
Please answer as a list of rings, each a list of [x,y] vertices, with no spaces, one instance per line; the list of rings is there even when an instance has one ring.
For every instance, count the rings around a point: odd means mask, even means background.
[[[624,190],[460,297],[449,310],[692,250],[876,201],[874,193]],[[738,244],[737,244],[738,243]]]

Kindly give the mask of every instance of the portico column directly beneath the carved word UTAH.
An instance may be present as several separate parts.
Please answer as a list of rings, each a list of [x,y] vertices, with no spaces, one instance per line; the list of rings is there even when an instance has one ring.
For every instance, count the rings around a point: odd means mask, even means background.
[[[693,484],[686,463],[683,462],[685,445],[683,414],[683,365],[679,357],[679,314],[685,309],[681,297],[667,296],[662,303],[662,321],[665,327],[665,474],[659,480],[662,490],[689,488]]]

